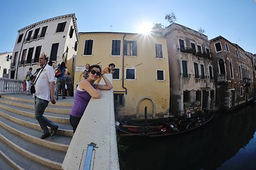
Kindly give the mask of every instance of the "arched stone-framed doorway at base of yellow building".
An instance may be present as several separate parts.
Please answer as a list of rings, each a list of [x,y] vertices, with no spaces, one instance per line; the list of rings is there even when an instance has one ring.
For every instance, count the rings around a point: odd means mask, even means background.
[[[137,107],[137,118],[145,118],[145,108],[148,118],[154,118],[156,113],[155,103],[151,98],[142,98]]]

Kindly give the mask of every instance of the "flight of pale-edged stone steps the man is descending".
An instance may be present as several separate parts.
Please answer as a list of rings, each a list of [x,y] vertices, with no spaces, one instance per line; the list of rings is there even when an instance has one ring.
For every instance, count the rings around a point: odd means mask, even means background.
[[[0,169],[61,169],[73,137],[69,114],[73,97],[49,103],[44,115],[59,128],[43,134],[34,118],[34,99],[25,94],[0,96]]]

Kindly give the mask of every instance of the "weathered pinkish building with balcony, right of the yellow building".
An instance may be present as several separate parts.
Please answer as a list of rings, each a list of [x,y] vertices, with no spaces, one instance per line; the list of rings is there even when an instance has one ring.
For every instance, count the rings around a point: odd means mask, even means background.
[[[208,37],[172,23],[162,33],[167,39],[171,84],[171,113],[215,109],[213,60]]]

